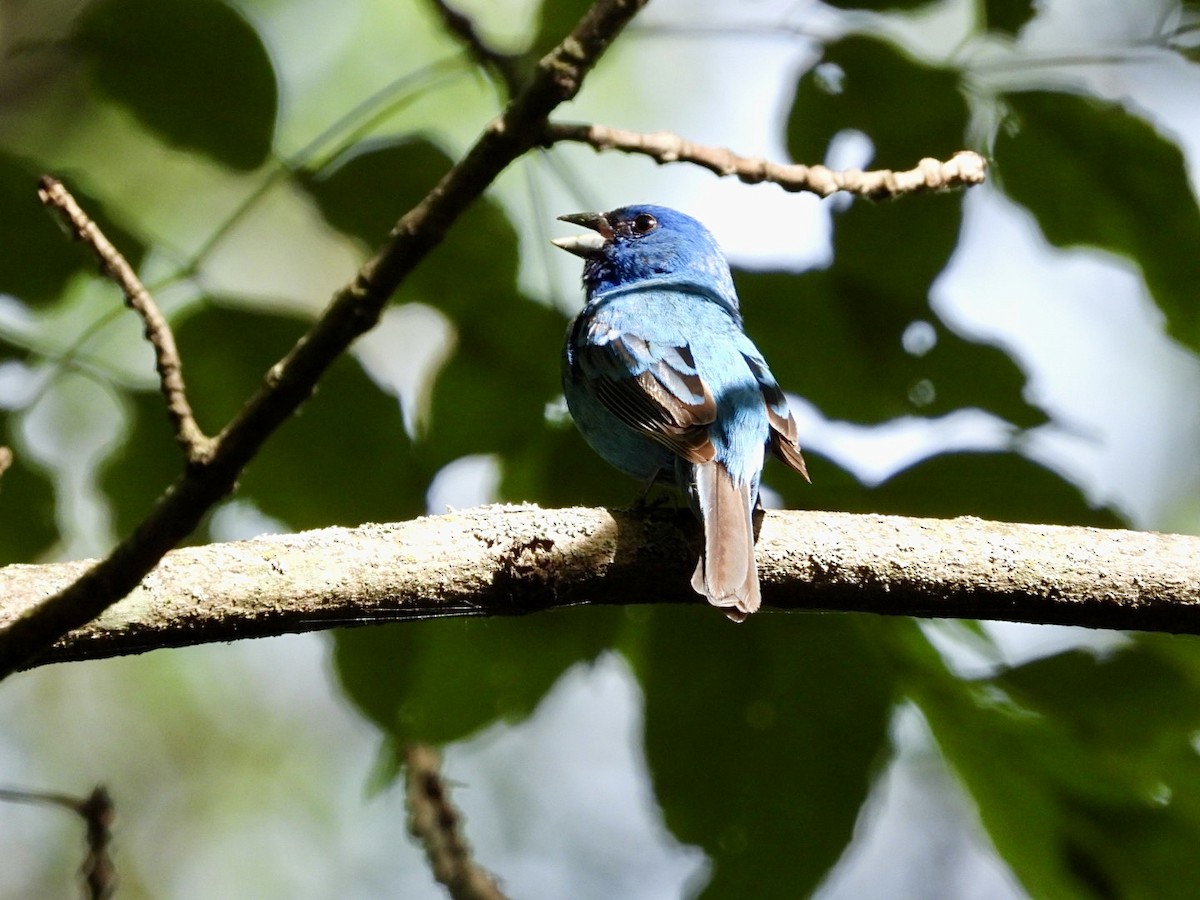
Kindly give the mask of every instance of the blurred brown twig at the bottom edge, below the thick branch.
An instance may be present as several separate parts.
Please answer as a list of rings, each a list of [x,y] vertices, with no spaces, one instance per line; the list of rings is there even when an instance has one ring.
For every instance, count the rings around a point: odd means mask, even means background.
[[[470,858],[462,835],[462,816],[450,803],[433,748],[413,744],[404,752],[408,833],[425,847],[433,877],[445,884],[454,900],[504,900],[492,876]]]

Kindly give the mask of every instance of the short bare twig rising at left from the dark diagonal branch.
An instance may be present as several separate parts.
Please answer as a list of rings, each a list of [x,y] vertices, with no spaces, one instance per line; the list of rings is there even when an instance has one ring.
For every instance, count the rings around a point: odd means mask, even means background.
[[[92,222],[88,214],[79,208],[76,198],[71,196],[61,181],[49,175],[42,175],[37,196],[46,206],[59,214],[78,240],[91,247],[104,274],[125,294],[126,305],[142,318],[146,340],[154,347],[158,384],[163,400],[167,401],[167,415],[175,428],[175,440],[187,455],[188,463],[203,463],[211,451],[212,440],[200,431],[191,403],[187,402],[184,370],[179,359],[179,349],[175,347],[175,335],[158,310],[158,305],[133,271],[133,266],[104,236],[100,226]]]

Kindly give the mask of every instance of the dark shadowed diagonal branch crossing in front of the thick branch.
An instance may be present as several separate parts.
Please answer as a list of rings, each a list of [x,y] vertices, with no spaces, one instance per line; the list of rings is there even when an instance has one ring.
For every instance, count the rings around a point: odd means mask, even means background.
[[[125,596],[233,490],[263,442],[308,398],[338,355],[379,320],[400,283],[442,241],[463,210],[536,144],[546,116],[578,92],[596,60],[646,2],[598,0],[588,10],[575,30],[538,64],[528,88],[400,220],[388,242],[335,294],[292,352],[269,370],[259,391],[216,437],[209,457],[190,466],[107,558],[0,630],[0,678]]]

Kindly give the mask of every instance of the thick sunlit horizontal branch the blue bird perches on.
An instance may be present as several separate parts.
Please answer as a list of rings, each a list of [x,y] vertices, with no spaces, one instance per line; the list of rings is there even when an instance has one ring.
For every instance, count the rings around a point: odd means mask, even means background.
[[[686,511],[484,506],[188,547],[30,665],[433,616],[704,605],[690,588],[697,538]],[[1200,538],[772,511],[757,557],[774,610],[1200,634]],[[0,623],[88,565],[0,569]]]

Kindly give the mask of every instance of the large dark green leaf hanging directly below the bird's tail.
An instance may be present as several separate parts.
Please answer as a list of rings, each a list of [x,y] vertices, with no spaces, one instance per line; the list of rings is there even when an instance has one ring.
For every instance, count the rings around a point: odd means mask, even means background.
[[[646,751],[671,830],[713,859],[706,896],[806,896],[845,851],[889,746],[880,628],[650,611],[632,654]]]

